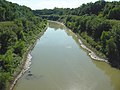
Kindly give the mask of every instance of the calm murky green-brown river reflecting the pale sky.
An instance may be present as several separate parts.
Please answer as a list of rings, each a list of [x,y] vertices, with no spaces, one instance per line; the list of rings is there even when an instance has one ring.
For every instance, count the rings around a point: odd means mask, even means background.
[[[92,60],[65,26],[50,22],[14,90],[120,90],[120,70]]]

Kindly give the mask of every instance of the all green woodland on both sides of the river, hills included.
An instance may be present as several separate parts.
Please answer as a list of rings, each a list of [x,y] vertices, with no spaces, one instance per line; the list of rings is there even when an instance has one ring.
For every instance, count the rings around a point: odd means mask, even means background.
[[[47,21],[42,18],[64,22],[108,58],[112,66],[120,68],[119,16],[120,2],[97,1],[75,9],[32,11],[26,6],[0,0],[0,90],[5,90],[12,82],[28,47],[45,28]]]

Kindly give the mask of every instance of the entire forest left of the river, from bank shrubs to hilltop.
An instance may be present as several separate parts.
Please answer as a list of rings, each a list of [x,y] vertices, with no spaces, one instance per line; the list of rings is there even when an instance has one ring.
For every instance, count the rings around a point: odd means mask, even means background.
[[[34,16],[30,8],[0,0],[0,90],[12,82],[28,47],[46,23]]]

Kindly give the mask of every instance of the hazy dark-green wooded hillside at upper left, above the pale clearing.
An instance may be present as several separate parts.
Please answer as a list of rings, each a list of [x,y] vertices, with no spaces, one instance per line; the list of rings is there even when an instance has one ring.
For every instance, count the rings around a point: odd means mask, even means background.
[[[11,21],[24,16],[33,16],[30,8],[0,0],[0,21]]]

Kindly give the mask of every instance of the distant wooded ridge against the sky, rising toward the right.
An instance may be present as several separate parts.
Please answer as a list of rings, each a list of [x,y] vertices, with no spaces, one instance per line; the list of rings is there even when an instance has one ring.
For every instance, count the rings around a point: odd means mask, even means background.
[[[78,8],[54,8],[54,9],[43,9],[33,10],[33,13],[37,16],[40,15],[96,15],[105,17],[107,19],[120,20],[120,1],[97,1],[95,3],[82,4]]]

